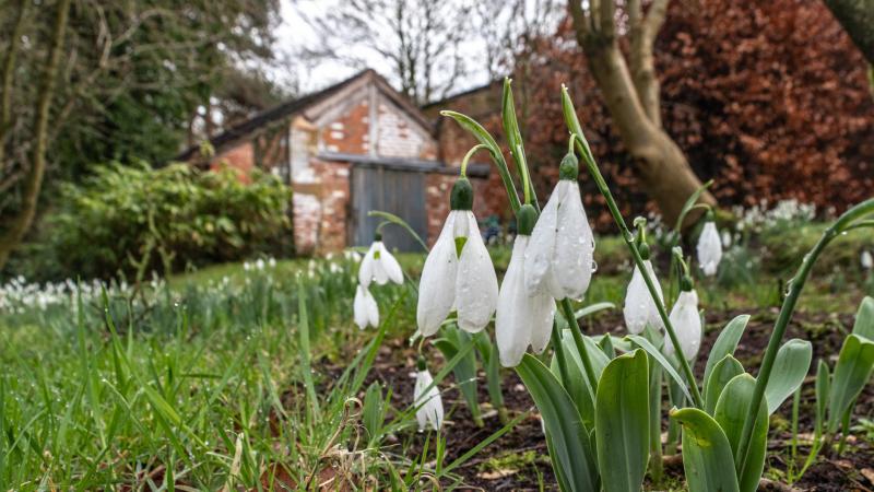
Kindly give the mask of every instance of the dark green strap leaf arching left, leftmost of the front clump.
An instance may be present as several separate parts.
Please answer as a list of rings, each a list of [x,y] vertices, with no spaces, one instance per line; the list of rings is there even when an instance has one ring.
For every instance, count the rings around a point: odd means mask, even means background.
[[[600,490],[598,469],[577,407],[555,375],[531,354],[516,372],[531,394],[546,427],[550,458],[564,492]]]

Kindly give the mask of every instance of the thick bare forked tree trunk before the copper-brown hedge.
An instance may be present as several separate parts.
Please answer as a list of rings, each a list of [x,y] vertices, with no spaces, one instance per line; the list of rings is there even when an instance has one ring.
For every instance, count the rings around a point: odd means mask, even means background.
[[[569,0],[577,42],[589,61],[619,138],[635,161],[635,175],[647,195],[659,206],[669,224],[680,216],[688,197],[701,187],[683,151],[661,128],[659,81],[656,77],[652,44],[665,14],[666,0],[652,2],[643,17],[640,3],[627,2],[631,36],[631,70],[615,35],[615,4],[598,2],[598,10],[586,13],[580,0]],[[704,192],[700,202],[716,199]],[[700,211],[689,213],[693,224]]]

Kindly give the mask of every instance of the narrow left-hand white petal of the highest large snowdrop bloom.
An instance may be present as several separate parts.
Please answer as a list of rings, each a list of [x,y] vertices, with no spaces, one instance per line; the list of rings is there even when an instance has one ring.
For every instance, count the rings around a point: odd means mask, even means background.
[[[546,290],[546,281],[552,272],[555,254],[558,202],[562,196],[562,181],[553,190],[550,200],[531,231],[531,241],[525,249],[524,281],[529,294]]]

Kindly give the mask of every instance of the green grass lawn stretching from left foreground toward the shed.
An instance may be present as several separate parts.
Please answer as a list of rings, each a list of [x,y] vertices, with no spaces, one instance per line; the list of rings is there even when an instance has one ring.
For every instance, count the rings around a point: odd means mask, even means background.
[[[594,277],[587,304],[622,306],[630,272],[621,246],[599,242],[595,257],[610,274]],[[505,270],[507,248],[494,257]],[[412,278],[423,259],[400,255]],[[775,305],[779,277],[747,270],[700,279],[704,307]],[[456,483],[453,467],[439,459],[439,435],[428,437],[424,455],[409,456],[411,409],[389,398],[377,414],[389,418],[374,418],[390,388],[365,396],[382,337],[413,331],[415,283],[371,288],[382,325],[359,331],[351,323],[356,271],[342,256],[228,263],[170,278],[135,298],[92,291],[81,303],[67,297],[0,313],[0,488],[269,490],[327,481],[409,490],[429,488],[425,478],[441,470]],[[847,285],[858,277],[826,272],[801,305],[852,312],[862,294]],[[331,370],[338,365],[347,368]],[[400,444],[387,447],[390,436]],[[535,458],[484,466],[525,470]]]

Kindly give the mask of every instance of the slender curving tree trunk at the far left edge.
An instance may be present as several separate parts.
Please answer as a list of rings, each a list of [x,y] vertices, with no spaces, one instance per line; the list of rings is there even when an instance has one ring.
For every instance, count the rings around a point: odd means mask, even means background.
[[[55,85],[58,78],[67,20],[70,12],[70,0],[60,0],[52,30],[51,48],[46,60],[44,80],[37,98],[36,121],[34,122],[34,151],[31,168],[24,180],[21,209],[13,218],[9,229],[0,236],[0,269],[5,266],[9,255],[21,244],[33,225],[39,191],[43,188],[43,176],[46,172],[46,147],[48,144],[48,122],[51,114],[51,102],[55,98]]]

